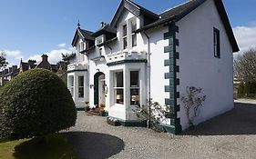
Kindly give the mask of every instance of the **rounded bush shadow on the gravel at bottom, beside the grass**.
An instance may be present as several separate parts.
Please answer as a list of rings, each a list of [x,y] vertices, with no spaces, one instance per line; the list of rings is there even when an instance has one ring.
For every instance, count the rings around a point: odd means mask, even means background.
[[[79,158],[108,158],[125,147],[123,140],[109,134],[68,132],[63,135]]]

